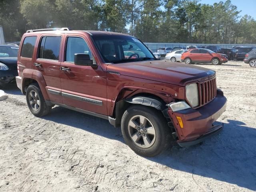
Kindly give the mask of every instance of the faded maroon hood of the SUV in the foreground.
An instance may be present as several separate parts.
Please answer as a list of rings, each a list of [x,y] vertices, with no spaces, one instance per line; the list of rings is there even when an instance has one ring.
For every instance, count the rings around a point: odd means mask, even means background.
[[[107,70],[118,72],[125,76],[154,80],[178,86],[184,86],[187,82],[203,81],[215,76],[213,70],[166,60],[110,64],[107,66]]]

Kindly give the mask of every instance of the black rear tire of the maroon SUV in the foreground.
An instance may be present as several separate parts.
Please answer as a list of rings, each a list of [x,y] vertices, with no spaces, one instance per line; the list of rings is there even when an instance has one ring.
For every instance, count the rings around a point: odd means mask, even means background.
[[[34,109],[32,106],[33,104],[30,104],[31,102],[31,99],[32,99],[32,96],[30,95],[30,93],[36,93],[36,100],[38,99],[40,101],[40,105],[38,105],[38,109]],[[34,94],[35,95],[35,94]],[[27,104],[28,104],[28,108],[30,110],[30,112],[36,116],[36,117],[41,117],[41,116],[45,116],[45,115],[48,115],[51,110],[52,110],[52,106],[47,106],[46,105],[46,102],[44,100],[44,96],[40,90],[40,87],[37,83],[33,83],[33,84],[30,84],[26,90],[26,100],[27,100]],[[38,101],[37,100],[37,101]],[[35,106],[36,104],[34,104]],[[36,106],[35,106],[36,108]]]

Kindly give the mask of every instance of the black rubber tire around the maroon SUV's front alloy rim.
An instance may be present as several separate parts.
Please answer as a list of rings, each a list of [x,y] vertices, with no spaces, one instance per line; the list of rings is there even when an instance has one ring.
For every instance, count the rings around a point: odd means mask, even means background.
[[[134,118],[134,116],[144,116],[150,123],[152,123],[155,130],[155,140],[152,146],[148,148],[142,148],[138,146],[130,136],[129,122]],[[136,127],[136,126],[135,126]],[[159,154],[166,146],[171,143],[170,139],[170,129],[167,125],[167,120],[161,114],[160,111],[152,107],[133,105],[130,106],[123,114],[121,121],[122,135],[126,144],[138,155],[152,157]],[[131,128],[132,129],[132,128]],[[146,126],[145,128],[146,129]],[[135,130],[136,131],[136,130]],[[138,130],[137,130],[138,131]],[[140,131],[138,131],[139,133]],[[140,134],[140,133],[139,133]],[[143,136],[144,137],[144,136]],[[142,135],[141,139],[143,141]]]

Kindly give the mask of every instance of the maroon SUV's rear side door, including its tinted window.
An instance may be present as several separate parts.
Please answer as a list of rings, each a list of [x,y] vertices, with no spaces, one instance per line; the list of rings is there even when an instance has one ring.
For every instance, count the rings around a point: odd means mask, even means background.
[[[42,35],[38,45],[34,69],[44,76],[51,101],[62,103],[60,84],[60,55],[64,35]]]

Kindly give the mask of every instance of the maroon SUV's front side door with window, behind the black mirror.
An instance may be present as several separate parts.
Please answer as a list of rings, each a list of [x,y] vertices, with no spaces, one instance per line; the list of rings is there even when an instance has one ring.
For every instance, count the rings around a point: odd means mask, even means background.
[[[95,66],[75,65],[76,53],[89,54]],[[61,68],[63,104],[107,115],[106,73],[94,60],[92,47],[85,36],[65,36]]]

